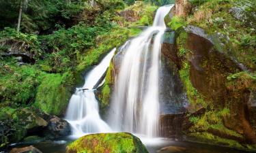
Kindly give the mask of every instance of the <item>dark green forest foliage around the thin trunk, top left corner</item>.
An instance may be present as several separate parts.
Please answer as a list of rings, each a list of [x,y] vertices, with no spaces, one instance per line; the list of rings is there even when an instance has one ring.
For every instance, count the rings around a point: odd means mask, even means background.
[[[24,3],[23,3],[24,4]],[[16,27],[20,0],[0,1],[0,29]],[[23,5],[21,29],[30,33],[44,31],[55,25],[55,22],[74,18],[83,7],[78,3],[67,3],[66,0],[33,0]],[[71,21],[71,20],[70,20]]]

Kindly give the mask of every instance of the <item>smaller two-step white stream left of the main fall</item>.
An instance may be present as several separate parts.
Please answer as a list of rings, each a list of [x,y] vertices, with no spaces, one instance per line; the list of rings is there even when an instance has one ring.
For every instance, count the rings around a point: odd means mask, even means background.
[[[66,120],[72,126],[73,137],[81,137],[88,133],[111,132],[109,125],[100,118],[94,90],[96,90],[96,85],[100,83],[100,78],[109,67],[115,50],[115,48],[111,50],[99,65],[87,73],[83,88],[76,88],[76,92],[70,99]]]

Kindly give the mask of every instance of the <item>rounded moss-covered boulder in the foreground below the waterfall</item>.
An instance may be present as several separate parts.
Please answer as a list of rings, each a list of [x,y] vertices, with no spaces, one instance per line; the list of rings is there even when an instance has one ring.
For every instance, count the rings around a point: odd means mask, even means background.
[[[130,133],[85,135],[66,148],[66,153],[76,152],[148,153],[141,140]]]

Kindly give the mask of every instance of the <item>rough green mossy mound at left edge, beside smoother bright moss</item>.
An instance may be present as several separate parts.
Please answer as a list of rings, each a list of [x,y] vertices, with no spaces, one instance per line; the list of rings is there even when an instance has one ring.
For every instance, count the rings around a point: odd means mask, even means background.
[[[11,101],[16,105],[27,105],[35,97],[35,90],[43,75],[36,67],[30,65],[16,66],[16,61],[9,58],[0,61],[0,99],[2,102]]]

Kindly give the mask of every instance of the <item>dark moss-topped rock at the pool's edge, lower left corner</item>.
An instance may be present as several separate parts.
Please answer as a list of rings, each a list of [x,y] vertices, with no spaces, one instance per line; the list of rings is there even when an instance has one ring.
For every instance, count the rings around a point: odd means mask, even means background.
[[[38,135],[47,126],[39,112],[29,108],[14,109],[12,114],[1,116],[0,143],[1,146],[22,140],[28,135]]]

